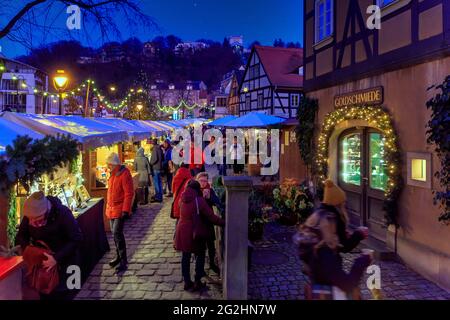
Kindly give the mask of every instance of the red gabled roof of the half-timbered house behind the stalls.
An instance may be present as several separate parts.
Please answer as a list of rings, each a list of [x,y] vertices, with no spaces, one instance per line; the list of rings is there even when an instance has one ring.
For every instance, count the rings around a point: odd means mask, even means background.
[[[270,82],[279,87],[303,87],[303,49],[255,46],[254,51],[264,67]]]

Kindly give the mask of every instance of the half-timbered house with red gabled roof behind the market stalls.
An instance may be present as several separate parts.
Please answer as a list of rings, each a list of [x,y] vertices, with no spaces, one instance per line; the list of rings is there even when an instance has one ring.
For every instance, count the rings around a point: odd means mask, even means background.
[[[303,93],[303,50],[255,46],[239,87],[239,114],[295,117]]]

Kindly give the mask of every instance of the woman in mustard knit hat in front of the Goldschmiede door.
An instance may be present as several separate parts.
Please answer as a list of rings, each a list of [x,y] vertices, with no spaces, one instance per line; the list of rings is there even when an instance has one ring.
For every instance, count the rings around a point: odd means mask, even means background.
[[[345,201],[345,192],[331,180],[327,180],[320,208],[305,223],[310,228],[320,230],[322,236],[308,263],[313,297],[315,286],[318,286],[321,292],[324,288],[329,288],[330,298],[332,287],[337,287],[350,296],[358,288],[365,269],[372,261],[370,255],[364,254],[355,260],[349,273],[343,270],[340,253],[352,251],[361,240],[368,237],[367,228],[364,227],[351,234],[347,231]]]

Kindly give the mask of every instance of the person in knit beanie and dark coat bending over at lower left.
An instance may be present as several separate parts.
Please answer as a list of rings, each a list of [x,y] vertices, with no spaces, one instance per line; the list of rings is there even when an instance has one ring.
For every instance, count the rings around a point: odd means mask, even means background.
[[[72,211],[58,198],[46,197],[43,192],[35,192],[25,200],[24,217],[19,226],[16,245],[24,251],[29,245],[43,241],[54,252],[44,258],[43,267],[59,269],[60,283],[49,295],[42,299],[64,299],[68,295],[66,287],[67,267],[78,265],[78,247],[83,235]]]

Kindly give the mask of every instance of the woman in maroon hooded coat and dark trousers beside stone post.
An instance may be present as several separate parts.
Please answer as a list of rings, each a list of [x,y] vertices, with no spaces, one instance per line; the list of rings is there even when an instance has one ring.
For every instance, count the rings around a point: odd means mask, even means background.
[[[180,220],[177,224],[174,246],[177,251],[183,252],[181,269],[184,279],[184,289],[194,291],[205,288],[201,278],[206,275],[204,270],[206,240],[194,239],[194,215],[200,214],[205,221],[208,220],[215,225],[224,226],[225,221],[216,216],[202,197],[200,184],[190,181],[185,192],[181,196]],[[195,282],[191,281],[190,261],[191,254],[196,255]]]

